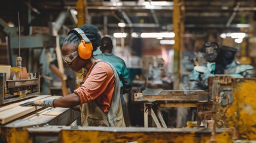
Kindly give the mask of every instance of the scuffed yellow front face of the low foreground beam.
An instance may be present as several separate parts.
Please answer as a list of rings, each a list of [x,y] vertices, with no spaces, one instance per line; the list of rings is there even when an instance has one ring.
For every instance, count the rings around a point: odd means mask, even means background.
[[[211,138],[211,132],[199,133],[194,131],[181,132],[132,132],[106,131],[106,130],[61,130],[60,142],[172,142],[172,143],[203,143]],[[181,129],[182,130],[182,129]],[[216,135],[217,142],[232,142],[230,133],[226,130]]]

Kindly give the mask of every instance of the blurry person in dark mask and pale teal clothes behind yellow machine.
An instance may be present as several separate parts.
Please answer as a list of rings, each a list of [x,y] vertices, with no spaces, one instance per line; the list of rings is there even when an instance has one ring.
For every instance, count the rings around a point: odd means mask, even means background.
[[[190,90],[208,89],[208,78],[215,74],[228,74],[233,77],[254,77],[254,67],[241,65],[236,61],[237,49],[230,46],[218,46],[216,42],[207,42],[203,46],[206,66],[195,66],[190,74]]]

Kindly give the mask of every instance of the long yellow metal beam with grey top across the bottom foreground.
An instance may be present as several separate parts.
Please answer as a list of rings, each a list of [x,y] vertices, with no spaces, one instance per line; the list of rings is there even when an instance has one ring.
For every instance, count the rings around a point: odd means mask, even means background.
[[[211,129],[110,128],[81,126],[45,126],[29,128],[36,136],[59,135],[56,142],[173,142],[204,143],[211,138]],[[217,129],[217,142],[232,142],[233,130]]]

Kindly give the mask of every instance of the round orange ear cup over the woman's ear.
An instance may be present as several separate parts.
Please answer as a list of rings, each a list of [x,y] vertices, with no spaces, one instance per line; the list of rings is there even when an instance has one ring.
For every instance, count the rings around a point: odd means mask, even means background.
[[[84,60],[87,60],[91,57],[93,51],[93,45],[92,43],[86,43],[84,40],[81,40],[81,42],[78,45],[78,55],[80,58],[83,58]]]

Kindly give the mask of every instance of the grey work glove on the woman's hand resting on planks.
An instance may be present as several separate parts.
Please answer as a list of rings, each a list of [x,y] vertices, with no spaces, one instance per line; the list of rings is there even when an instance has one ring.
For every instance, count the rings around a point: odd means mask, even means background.
[[[23,104],[20,104],[21,106],[43,106],[43,107],[54,107],[53,101],[56,99],[50,99],[50,100],[35,100],[35,101],[29,101],[25,102]]]

